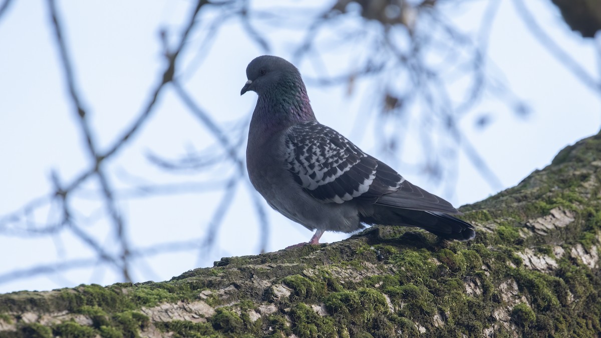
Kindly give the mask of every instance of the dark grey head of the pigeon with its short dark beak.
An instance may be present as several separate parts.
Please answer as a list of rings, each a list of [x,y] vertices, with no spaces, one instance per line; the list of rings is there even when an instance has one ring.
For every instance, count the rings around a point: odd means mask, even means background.
[[[272,55],[263,55],[255,58],[246,67],[246,84],[242,87],[240,95],[249,90],[261,95],[273,88],[296,87],[304,90],[301,73],[293,64]]]

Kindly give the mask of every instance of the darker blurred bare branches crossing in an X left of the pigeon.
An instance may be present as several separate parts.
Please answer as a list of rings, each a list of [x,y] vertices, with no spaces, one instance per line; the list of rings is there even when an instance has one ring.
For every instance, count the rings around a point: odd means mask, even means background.
[[[188,35],[192,31],[192,27],[194,26],[197,14],[200,11],[200,8],[204,4],[207,4],[207,2],[204,0],[198,1],[195,9],[191,13],[189,22],[185,26],[182,36],[180,37],[180,40],[179,40],[176,48],[173,51],[169,51],[168,47],[166,46],[166,42],[163,41],[163,42],[165,42],[164,43],[165,56],[168,60],[168,66],[166,67],[166,69],[163,72],[162,81],[159,83],[159,85],[157,85],[157,87],[151,94],[150,102],[148,102],[147,105],[145,106],[145,108],[142,110],[142,114],[139,115],[139,117],[127,129],[127,131],[124,132],[124,134],[121,137],[119,137],[117,140],[115,140],[114,143],[112,143],[112,146],[109,147],[109,149],[104,153],[101,153],[101,152],[99,152],[99,150],[97,150],[96,143],[95,143],[94,137],[93,137],[93,131],[90,127],[90,124],[88,124],[88,121],[87,121],[87,112],[82,104],[82,99],[81,99],[81,95],[79,94],[78,86],[75,83],[75,76],[74,76],[72,61],[70,60],[70,55],[69,55],[69,52],[67,51],[67,45],[66,45],[66,42],[64,39],[63,30],[61,28],[61,19],[59,18],[58,9],[56,8],[55,1],[48,0],[47,4],[48,4],[48,10],[50,13],[50,17],[52,19],[52,27],[53,27],[54,35],[55,35],[55,39],[56,39],[56,46],[59,51],[61,66],[63,67],[63,73],[64,73],[64,77],[66,79],[67,88],[69,90],[71,103],[76,112],[76,116],[78,117],[79,129],[81,129],[82,135],[84,136],[84,138],[86,140],[85,143],[87,145],[87,150],[91,157],[92,164],[88,170],[79,174],[79,176],[76,177],[75,179],[73,179],[72,182],[69,185],[67,185],[66,187],[62,186],[61,183],[59,183],[58,176],[56,175],[56,173],[53,174],[52,177],[53,177],[53,182],[55,185],[55,192],[53,193],[53,195],[54,195],[54,198],[59,198],[59,200],[61,201],[59,204],[63,208],[62,221],[57,223],[56,226],[46,227],[46,229],[44,229],[43,231],[55,232],[57,229],[59,229],[59,227],[69,226],[69,229],[73,232],[74,235],[76,235],[82,242],[87,244],[89,247],[91,247],[96,252],[99,259],[105,260],[109,263],[114,264],[118,268],[120,268],[121,274],[123,275],[124,280],[131,281],[132,278],[130,277],[130,268],[129,268],[129,263],[130,263],[129,255],[130,255],[131,250],[130,250],[130,245],[129,245],[129,242],[127,241],[127,236],[126,236],[126,230],[125,230],[126,224],[123,220],[121,213],[119,212],[119,210],[117,208],[117,204],[116,204],[115,198],[114,198],[114,188],[112,188],[111,184],[109,183],[108,177],[106,176],[106,174],[102,168],[103,162],[105,161],[105,159],[108,159],[111,156],[114,156],[115,153],[118,152],[118,150],[122,149],[122,147],[124,146],[124,144],[127,143],[127,141],[132,140],[133,136],[135,136],[135,134],[141,129],[142,124],[145,121],[147,121],[148,118],[150,117],[150,114],[154,109],[154,106],[155,106],[157,97],[159,96],[159,93],[162,91],[165,84],[168,84],[172,80],[172,77],[175,72],[175,62],[177,60],[178,55],[182,52],[182,50],[185,46],[185,43],[188,39]],[[8,6],[8,1],[6,1],[4,3],[2,10],[4,10],[7,6]],[[0,12],[0,13],[3,13],[3,12]],[[73,193],[73,191],[78,189],[79,186],[82,185],[82,183],[86,182],[92,176],[97,177],[97,180],[99,182],[99,185],[100,185],[100,188],[101,188],[101,191],[103,194],[103,198],[105,200],[106,212],[109,215],[109,217],[111,218],[112,223],[114,224],[115,238],[117,239],[118,242],[120,242],[121,253],[120,253],[120,256],[118,257],[118,259],[115,258],[114,256],[112,256],[111,254],[106,253],[106,251],[103,249],[102,245],[98,244],[94,240],[94,238],[87,235],[87,233],[85,233],[78,226],[78,224],[76,224],[73,221],[73,219],[71,217],[72,212],[70,211],[70,206],[69,206],[69,195],[71,195]],[[47,200],[46,200],[46,202],[47,202]],[[23,212],[19,212],[20,216],[17,216],[17,213],[14,213],[13,215],[8,215],[8,217],[2,218],[2,221],[0,222],[0,227],[4,227],[5,223],[17,221],[22,217],[28,217],[28,215],[32,213],[31,207],[38,207],[38,206],[40,206],[40,204],[43,204],[43,203],[40,203],[39,200],[34,200],[34,201],[28,203],[28,207],[24,208]],[[60,265],[60,266],[63,266],[63,265]],[[47,269],[38,269],[38,271],[48,271],[48,270]]]

